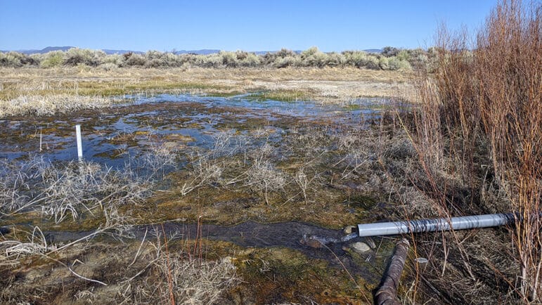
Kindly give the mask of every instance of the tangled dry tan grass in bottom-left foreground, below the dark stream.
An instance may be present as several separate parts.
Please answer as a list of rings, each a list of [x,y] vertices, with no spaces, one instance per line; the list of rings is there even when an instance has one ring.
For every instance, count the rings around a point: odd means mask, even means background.
[[[105,229],[105,228],[104,228]],[[217,304],[240,283],[230,258],[203,259],[201,237],[164,237],[160,226],[141,241],[60,246],[39,228],[0,237],[0,301],[4,304]],[[176,240],[177,239],[177,240]],[[168,251],[169,246],[169,251]],[[174,248],[172,250],[172,248]]]

